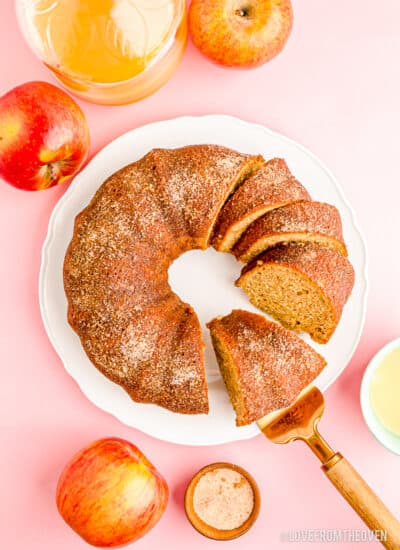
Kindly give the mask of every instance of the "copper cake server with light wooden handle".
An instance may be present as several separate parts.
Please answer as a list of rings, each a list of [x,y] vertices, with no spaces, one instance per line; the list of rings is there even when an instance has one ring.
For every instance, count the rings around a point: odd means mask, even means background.
[[[322,462],[322,470],[360,518],[372,531],[379,531],[381,544],[400,549],[400,522],[386,508],[353,466],[335,452],[318,432],[324,412],[324,397],[316,387],[308,387],[286,409],[274,411],[259,420],[258,426],[273,443],[300,439]]]

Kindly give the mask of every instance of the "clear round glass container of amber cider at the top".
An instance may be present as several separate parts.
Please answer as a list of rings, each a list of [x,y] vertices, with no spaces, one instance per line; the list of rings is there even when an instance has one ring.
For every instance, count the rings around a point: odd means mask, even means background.
[[[186,0],[16,0],[23,34],[74,94],[120,105],[158,90],[187,42]]]

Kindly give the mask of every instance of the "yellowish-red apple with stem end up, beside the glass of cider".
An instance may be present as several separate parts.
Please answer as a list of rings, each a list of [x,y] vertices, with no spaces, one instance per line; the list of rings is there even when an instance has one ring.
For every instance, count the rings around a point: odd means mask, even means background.
[[[290,0],[192,0],[189,10],[199,50],[216,63],[242,69],[275,57],[292,23]]]

